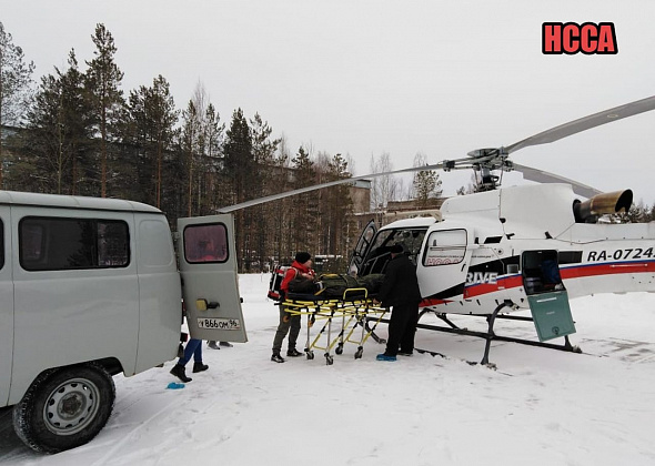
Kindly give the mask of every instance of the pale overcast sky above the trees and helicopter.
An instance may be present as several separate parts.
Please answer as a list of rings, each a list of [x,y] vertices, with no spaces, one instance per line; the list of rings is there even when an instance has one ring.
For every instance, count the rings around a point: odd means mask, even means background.
[[[92,59],[102,22],[125,94],[162,74],[181,109],[201,82],[224,121],[259,112],[292,151],[349,154],[360,175],[384,152],[435,163],[654,95],[654,20],[652,0],[0,0],[37,75],[71,48]],[[613,22],[618,54],[542,54],[554,21]],[[654,156],[655,111],[512,155],[651,205]]]

